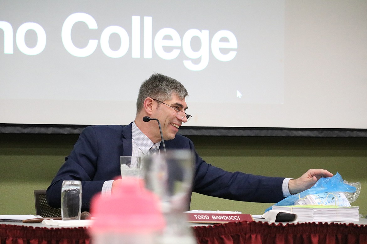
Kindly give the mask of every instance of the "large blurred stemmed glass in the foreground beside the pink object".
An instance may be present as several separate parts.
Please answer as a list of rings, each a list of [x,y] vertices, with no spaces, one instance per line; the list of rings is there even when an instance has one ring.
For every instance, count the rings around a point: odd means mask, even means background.
[[[190,150],[142,157],[145,187],[160,199],[166,228],[159,243],[194,244],[184,211],[189,210],[194,157]]]

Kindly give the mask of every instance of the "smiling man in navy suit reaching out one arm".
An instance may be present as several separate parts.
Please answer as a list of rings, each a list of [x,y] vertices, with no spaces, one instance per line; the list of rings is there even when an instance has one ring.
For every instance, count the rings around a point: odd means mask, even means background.
[[[142,156],[155,144],[161,149],[158,123],[144,122],[149,116],[160,121],[168,149],[189,149],[195,153],[193,192],[248,202],[275,203],[284,197],[310,188],[321,177],[332,173],[310,169],[298,179],[254,176],[226,172],[207,164],[195,151],[192,141],[177,135],[191,116],[185,98],[188,92],[177,80],[153,74],[142,83],[137,99],[137,115],[129,125],[94,125],[81,132],[70,155],[47,189],[48,203],[61,206],[63,180],[80,180],[83,188],[82,211],[88,211],[93,195],[110,194],[120,176],[120,156]]]

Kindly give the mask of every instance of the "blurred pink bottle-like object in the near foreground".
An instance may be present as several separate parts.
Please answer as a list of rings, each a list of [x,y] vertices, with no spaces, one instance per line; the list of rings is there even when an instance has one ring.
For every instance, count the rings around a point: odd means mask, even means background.
[[[91,202],[94,224],[90,227],[93,243],[153,243],[166,222],[160,201],[144,187],[144,181],[124,177],[120,191],[110,196],[97,195]]]

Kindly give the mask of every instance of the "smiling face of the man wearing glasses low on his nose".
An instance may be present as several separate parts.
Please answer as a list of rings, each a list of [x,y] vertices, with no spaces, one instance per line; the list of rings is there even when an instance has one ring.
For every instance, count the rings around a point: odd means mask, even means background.
[[[162,134],[164,140],[172,140],[175,138],[176,133],[178,132],[178,128],[187,121],[186,117],[178,116],[177,110],[185,111],[188,107],[185,101],[185,98],[180,100],[178,96],[173,93],[170,100],[162,101],[153,100],[153,111],[152,111],[152,118],[156,118],[161,123]],[[171,107],[173,108],[171,108]],[[175,110],[175,109],[177,110]],[[158,133],[155,133],[155,137],[158,135],[160,139],[160,132],[159,128],[156,130]]]

